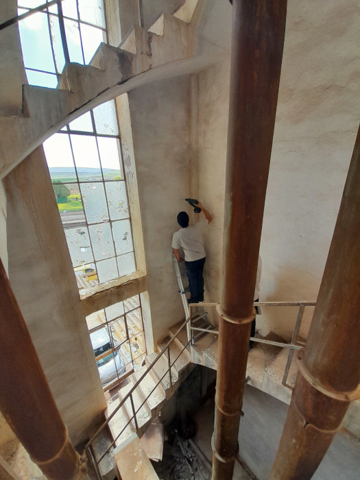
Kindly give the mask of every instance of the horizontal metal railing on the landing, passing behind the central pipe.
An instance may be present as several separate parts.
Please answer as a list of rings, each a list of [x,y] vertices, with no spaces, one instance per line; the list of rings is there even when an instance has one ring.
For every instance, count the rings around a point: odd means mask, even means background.
[[[303,348],[302,345],[298,345],[298,334],[300,331],[300,326],[302,322],[302,317],[304,315],[305,307],[315,307],[316,302],[254,302],[254,307],[298,307],[298,316],[296,317],[296,323],[293,328],[293,333],[291,335],[291,341],[289,344],[285,344],[280,341],[272,341],[272,340],[265,340],[257,337],[250,337],[251,341],[256,341],[259,344],[267,344],[278,346],[282,348],[288,348],[289,353],[287,355],[287,363],[285,365],[285,370],[283,374],[283,380],[281,381],[282,385],[285,387],[291,388],[291,385],[287,384],[287,377],[289,376],[289,370],[291,366],[291,361],[293,359],[293,352],[294,350],[301,350]],[[208,302],[201,302],[201,303],[192,303],[189,304],[190,309],[193,307],[216,307],[217,303],[208,303]],[[206,313],[204,313],[206,315]],[[204,317],[204,315],[201,315]],[[193,345],[195,343],[195,336],[193,335],[194,331],[206,332],[206,333],[214,333],[215,335],[219,335],[219,331],[212,330],[210,328],[200,328],[192,326],[191,322],[191,315],[189,318],[189,323],[187,324],[187,339],[188,344]]]

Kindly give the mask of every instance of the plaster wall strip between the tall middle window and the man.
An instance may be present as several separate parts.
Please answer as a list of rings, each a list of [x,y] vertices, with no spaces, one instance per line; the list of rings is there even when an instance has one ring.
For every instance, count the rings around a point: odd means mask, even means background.
[[[176,215],[190,212],[189,77],[177,77],[128,95],[139,184],[154,341],[184,320],[171,239]]]

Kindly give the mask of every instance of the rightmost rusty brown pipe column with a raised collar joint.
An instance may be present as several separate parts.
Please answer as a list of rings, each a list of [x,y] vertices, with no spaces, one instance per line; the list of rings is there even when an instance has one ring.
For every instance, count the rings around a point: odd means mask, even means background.
[[[273,480],[311,479],[360,389],[360,128]]]

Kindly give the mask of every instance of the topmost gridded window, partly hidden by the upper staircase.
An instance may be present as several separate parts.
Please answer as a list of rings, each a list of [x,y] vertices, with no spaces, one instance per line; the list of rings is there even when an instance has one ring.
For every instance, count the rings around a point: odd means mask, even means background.
[[[18,0],[18,14],[47,0]],[[19,21],[30,85],[56,88],[65,62],[88,64],[107,42],[103,0],[63,0]]]

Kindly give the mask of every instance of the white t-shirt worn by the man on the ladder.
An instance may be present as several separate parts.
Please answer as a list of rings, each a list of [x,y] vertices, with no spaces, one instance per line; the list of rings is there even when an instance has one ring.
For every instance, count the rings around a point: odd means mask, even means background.
[[[171,247],[175,248],[176,250],[178,250],[178,248],[182,248],[182,250],[184,250],[184,257],[187,262],[204,259],[206,253],[199,223],[186,228],[180,228],[180,230],[175,232],[173,234]]]

